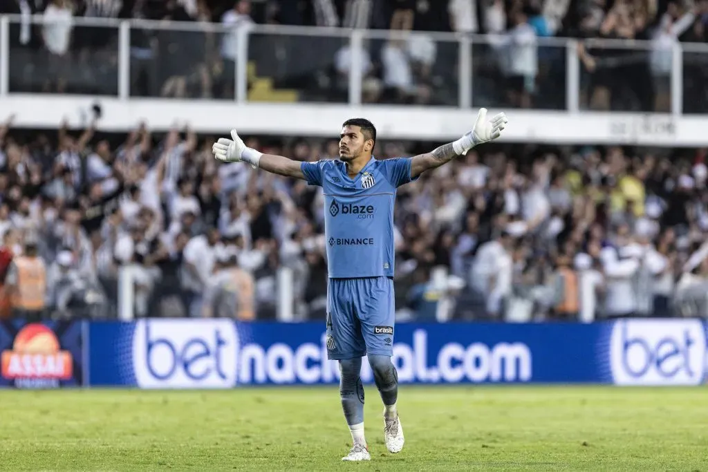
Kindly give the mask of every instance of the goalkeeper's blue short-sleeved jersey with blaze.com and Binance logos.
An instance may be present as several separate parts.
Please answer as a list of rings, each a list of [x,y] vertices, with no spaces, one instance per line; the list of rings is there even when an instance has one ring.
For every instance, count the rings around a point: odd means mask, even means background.
[[[329,277],[393,277],[396,189],[411,181],[411,159],[372,159],[355,178],[342,161],[303,162],[309,185],[324,190]]]

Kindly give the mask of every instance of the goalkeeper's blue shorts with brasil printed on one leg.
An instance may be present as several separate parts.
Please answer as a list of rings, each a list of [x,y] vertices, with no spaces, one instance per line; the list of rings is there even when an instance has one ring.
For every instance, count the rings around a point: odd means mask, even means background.
[[[389,277],[329,279],[327,357],[393,355],[394,281]]]

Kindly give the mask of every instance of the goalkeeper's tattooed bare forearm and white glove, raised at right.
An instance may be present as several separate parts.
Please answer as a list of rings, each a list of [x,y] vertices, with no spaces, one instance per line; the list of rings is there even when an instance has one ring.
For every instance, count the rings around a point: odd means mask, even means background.
[[[477,144],[497,139],[508,122],[504,113],[499,113],[491,120],[486,119],[486,108],[480,108],[472,131],[465,134],[457,141],[443,144],[426,154],[413,156],[411,162],[411,178],[416,178],[421,173],[442,166],[452,161],[460,154],[467,154]]]

